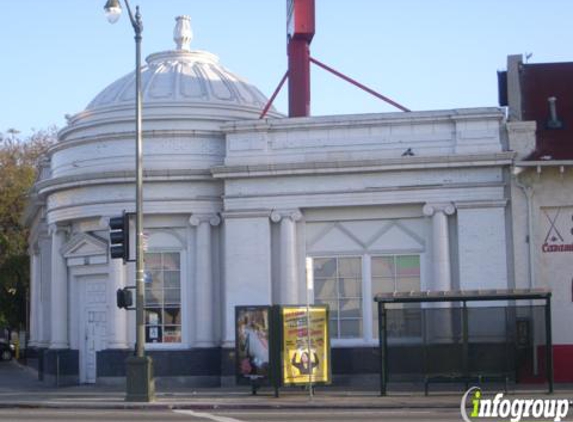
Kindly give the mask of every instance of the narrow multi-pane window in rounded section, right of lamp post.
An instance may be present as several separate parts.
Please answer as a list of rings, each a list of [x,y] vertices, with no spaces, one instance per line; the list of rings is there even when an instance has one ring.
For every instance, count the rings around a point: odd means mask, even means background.
[[[145,341],[181,343],[179,252],[145,254]]]

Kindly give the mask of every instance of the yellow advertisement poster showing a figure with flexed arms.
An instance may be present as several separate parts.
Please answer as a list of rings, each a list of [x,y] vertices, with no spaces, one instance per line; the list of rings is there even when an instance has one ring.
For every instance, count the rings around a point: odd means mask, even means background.
[[[329,383],[327,307],[284,306],[281,313],[283,384]],[[307,318],[309,315],[310,324]]]

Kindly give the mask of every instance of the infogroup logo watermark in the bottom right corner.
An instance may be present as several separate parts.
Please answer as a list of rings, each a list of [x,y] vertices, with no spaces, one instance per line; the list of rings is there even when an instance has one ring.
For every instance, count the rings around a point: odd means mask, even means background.
[[[471,402],[468,403],[468,400]],[[472,387],[462,397],[460,413],[466,422],[488,418],[495,418],[496,422],[519,422],[522,418],[559,422],[567,416],[569,406],[570,401],[567,399],[506,399],[503,393],[497,393],[493,399],[486,399],[479,387]]]

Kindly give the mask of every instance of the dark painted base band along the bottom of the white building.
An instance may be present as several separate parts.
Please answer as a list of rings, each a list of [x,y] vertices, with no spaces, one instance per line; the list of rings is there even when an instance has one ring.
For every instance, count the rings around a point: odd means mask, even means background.
[[[515,355],[505,345],[474,344],[469,347],[469,370],[472,362],[488,368],[488,373],[509,374],[515,371]],[[435,344],[389,348],[390,382],[423,382],[426,374],[452,372],[462,368],[456,345]],[[97,383],[125,385],[126,359],[130,350],[102,350],[97,353]],[[191,350],[151,351],[158,389],[175,387],[219,387],[235,385],[235,350],[219,347]],[[501,359],[504,357],[504,359]],[[38,369],[40,379],[52,385],[79,383],[79,351],[36,349],[30,352],[30,363]],[[378,347],[334,347],[331,350],[332,384],[375,388],[379,382]],[[481,370],[481,369],[480,369]]]

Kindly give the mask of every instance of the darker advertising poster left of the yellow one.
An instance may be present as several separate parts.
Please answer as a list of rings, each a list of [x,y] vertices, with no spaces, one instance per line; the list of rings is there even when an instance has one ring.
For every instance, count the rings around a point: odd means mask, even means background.
[[[268,306],[235,308],[235,353],[237,379],[254,380],[269,375]]]

